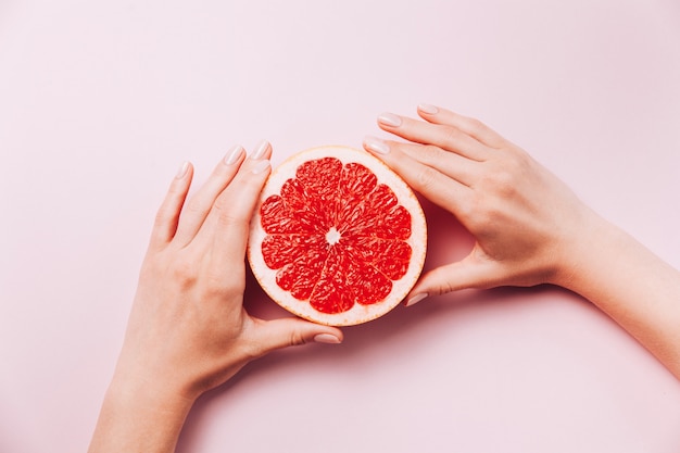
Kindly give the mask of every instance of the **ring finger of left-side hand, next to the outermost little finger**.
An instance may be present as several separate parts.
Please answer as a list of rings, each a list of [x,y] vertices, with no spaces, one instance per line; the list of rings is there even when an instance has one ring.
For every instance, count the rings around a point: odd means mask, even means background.
[[[215,199],[236,176],[244,155],[245,151],[242,147],[231,148],[217,164],[203,187],[189,200],[179,219],[175,236],[175,242],[178,246],[185,247],[196,237]]]

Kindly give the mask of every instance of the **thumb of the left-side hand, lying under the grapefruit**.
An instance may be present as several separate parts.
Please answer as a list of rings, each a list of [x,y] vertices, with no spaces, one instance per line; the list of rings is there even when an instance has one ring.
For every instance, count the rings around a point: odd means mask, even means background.
[[[255,341],[262,355],[277,349],[311,342],[337,344],[343,339],[342,330],[336,327],[294,317],[262,322],[257,327]]]

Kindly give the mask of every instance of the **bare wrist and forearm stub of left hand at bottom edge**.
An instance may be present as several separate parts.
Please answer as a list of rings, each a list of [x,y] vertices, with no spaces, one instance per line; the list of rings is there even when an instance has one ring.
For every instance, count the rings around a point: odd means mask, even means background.
[[[88,452],[174,452],[192,403],[143,381],[114,378]]]

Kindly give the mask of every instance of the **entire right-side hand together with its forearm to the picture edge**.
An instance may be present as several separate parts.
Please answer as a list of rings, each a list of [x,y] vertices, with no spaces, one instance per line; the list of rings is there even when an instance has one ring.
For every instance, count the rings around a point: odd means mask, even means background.
[[[407,297],[464,288],[555,284],[608,314],[680,378],[680,273],[583,204],[517,146],[476,119],[420,105],[386,113],[408,142],[364,147],[475,236],[462,261],[425,274]]]

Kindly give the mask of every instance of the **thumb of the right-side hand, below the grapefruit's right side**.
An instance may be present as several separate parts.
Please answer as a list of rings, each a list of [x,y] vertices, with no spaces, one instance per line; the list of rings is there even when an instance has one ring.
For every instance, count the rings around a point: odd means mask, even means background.
[[[469,288],[492,288],[499,279],[495,263],[479,259],[475,251],[462,261],[446,264],[424,274],[406,297],[406,306],[430,295],[445,294]]]

